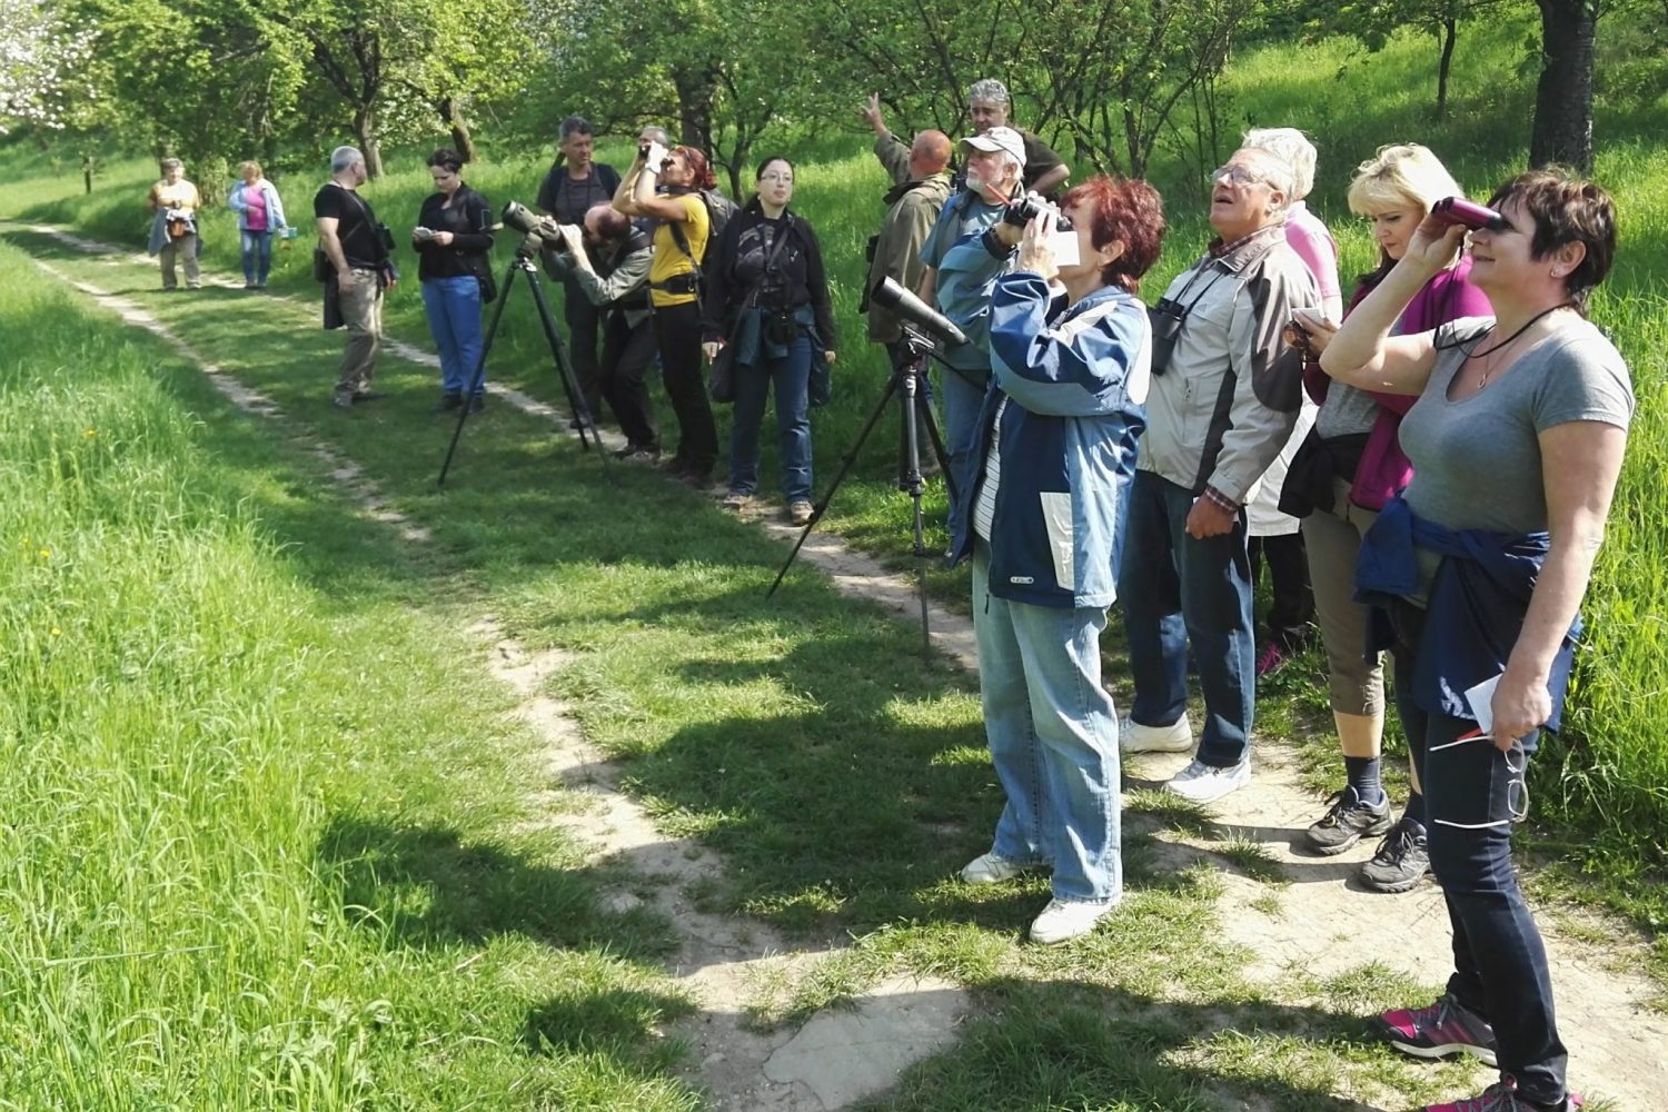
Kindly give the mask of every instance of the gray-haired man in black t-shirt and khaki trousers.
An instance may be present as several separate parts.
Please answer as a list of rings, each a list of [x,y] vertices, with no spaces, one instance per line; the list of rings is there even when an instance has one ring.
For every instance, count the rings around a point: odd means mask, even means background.
[[[347,325],[342,377],[335,383],[335,403],[342,408],[379,397],[370,388],[370,378],[377,368],[377,348],[382,347],[384,282],[394,287],[382,225],[370,203],[359,195],[365,178],[365,157],[354,147],[337,147],[330,152],[330,180],[314,197],[319,247],[335,272],[325,283],[325,303],[329,308],[334,297]]]

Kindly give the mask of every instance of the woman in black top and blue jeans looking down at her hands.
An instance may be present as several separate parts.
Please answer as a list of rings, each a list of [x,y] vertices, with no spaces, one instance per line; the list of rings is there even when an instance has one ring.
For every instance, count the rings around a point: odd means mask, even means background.
[[[422,305],[429,312],[429,333],[440,352],[440,403],[437,412],[464,405],[480,412],[485,377],[472,382],[480,362],[480,287],[490,282],[487,252],[492,250],[492,210],[487,198],[464,185],[464,157],[442,147],[429,155],[430,193],[412,228],[417,248],[417,277]]]

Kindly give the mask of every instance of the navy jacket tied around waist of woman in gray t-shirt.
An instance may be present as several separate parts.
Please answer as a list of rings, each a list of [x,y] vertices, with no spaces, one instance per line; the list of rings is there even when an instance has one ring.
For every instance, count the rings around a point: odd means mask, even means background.
[[[1506,670],[1550,543],[1546,533],[1444,528],[1414,517],[1404,500],[1391,500],[1361,538],[1356,562],[1356,602],[1374,610],[1368,652],[1388,649],[1394,640],[1388,607],[1418,585],[1414,548],[1439,553],[1443,562],[1431,580],[1424,634],[1414,647],[1411,695],[1429,714],[1476,722],[1465,692]],[[1546,682],[1553,699],[1548,730],[1556,730],[1563,719],[1580,635],[1578,615],[1558,647]],[[1533,739],[1525,739],[1525,749],[1531,747]]]

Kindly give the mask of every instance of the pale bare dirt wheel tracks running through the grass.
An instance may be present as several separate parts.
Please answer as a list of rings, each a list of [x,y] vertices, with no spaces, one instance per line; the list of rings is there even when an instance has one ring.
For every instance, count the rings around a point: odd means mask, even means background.
[[[82,250],[117,253],[117,248],[67,237],[53,228],[32,230],[55,235]],[[202,367],[234,405],[267,418],[282,417],[270,400],[237,385],[132,302],[77,282],[38,260],[37,265],[117,310],[128,323],[167,338]],[[304,307],[297,303],[297,308]],[[305,310],[310,313],[310,307]],[[397,353],[432,363],[420,352],[405,352]],[[565,413],[540,402],[517,392],[500,393],[525,412],[565,423]],[[332,463],[335,478],[354,492],[367,512],[399,528],[410,542],[427,540],[427,533],[417,525],[387,508],[357,467],[322,443],[312,443],[310,450]],[[797,535],[797,530],[774,522],[761,520],[761,525],[784,540]],[[802,559],[826,570],[842,592],[899,610],[907,620],[916,619],[919,602],[914,585],[886,572],[874,560],[849,552],[839,537],[814,533]],[[936,647],[962,667],[976,669],[971,619],[939,607],[931,607],[929,612]],[[826,947],[791,952],[762,924],[711,915],[691,905],[686,889],[704,877],[721,875],[722,860],[697,844],[667,840],[656,832],[641,807],[619,789],[617,769],[584,742],[567,709],[544,695],[545,679],[562,667],[564,659],[557,654],[524,652],[502,635],[490,617],[480,620],[475,634],[490,647],[489,667],[494,677],[522,695],[517,714],[547,740],[552,772],[567,789],[592,797],[594,807],[584,814],[552,814],[552,822],[569,825],[595,844],[599,855],[614,857],[652,882],[649,899],[677,927],[681,949],[674,972],[702,1009],[697,1020],[681,1030],[694,1045],[697,1084],[709,1089],[721,1109],[811,1112],[839,1107],[829,1100],[849,1097],[851,1090],[814,1075],[814,1062],[807,1062],[797,1074],[789,1064],[791,1059],[806,1057],[804,1047],[796,1054],[792,1044],[804,1039],[811,1025],[797,1035],[757,1035],[742,1027],[742,1009],[757,977],[782,967],[809,965]],[[1294,844],[1303,829],[1319,815],[1323,804],[1303,787],[1288,750],[1263,742],[1253,760],[1253,784],[1216,805],[1218,822],[1263,845],[1279,862],[1289,884],[1278,890],[1276,909],[1268,900],[1266,885],[1224,874],[1219,919],[1231,940],[1256,954],[1249,975],[1269,982],[1293,972],[1326,977],[1376,960],[1423,982],[1441,984],[1449,969],[1449,934],[1439,889],[1424,884],[1403,895],[1378,895],[1353,887],[1351,879],[1371,855],[1373,844],[1333,859],[1296,854]],[[1138,782],[1163,780],[1183,762],[1183,757],[1144,759],[1131,764],[1129,777]],[[1208,849],[1209,844],[1199,845]],[[627,890],[610,895],[619,909],[632,907],[641,899]],[[1630,959],[1640,944],[1621,934],[1618,937],[1623,940],[1598,949],[1563,932],[1556,915],[1541,915],[1541,925],[1576,1087],[1591,1089],[1591,1095],[1616,1100],[1623,1109],[1668,1109],[1668,1017],[1646,1007],[1650,985],[1630,969]],[[911,1044],[911,1050],[927,1052],[954,1037],[951,1029],[964,1015],[966,1002],[952,985],[887,985],[876,994],[876,1000],[884,1002],[894,992],[942,1000],[942,1007],[926,1017],[929,1024],[942,1025],[936,1032],[941,1037],[934,1039],[932,1030],[924,1030],[917,1044]],[[919,1027],[922,1015],[909,1015],[906,1020]],[[862,1037],[861,1029],[861,1022],[847,1025],[834,1032],[834,1039]],[[894,1030],[887,1029],[877,1042],[892,1037]],[[819,1054],[826,1057],[826,1047],[809,1057],[816,1059]],[[861,1065],[864,1059],[859,1057],[857,1062]],[[876,1069],[876,1060],[867,1060],[867,1070]],[[777,1077],[784,1080],[772,1080]]]

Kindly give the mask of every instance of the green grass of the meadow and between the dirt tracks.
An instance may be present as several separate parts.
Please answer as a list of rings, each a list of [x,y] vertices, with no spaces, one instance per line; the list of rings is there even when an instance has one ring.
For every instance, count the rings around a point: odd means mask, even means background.
[[[1239,63],[1243,115],[1316,132],[1314,203],[1346,272],[1366,267],[1368,243],[1338,198],[1346,167],[1379,142],[1431,143],[1475,193],[1521,160],[1493,123],[1525,118],[1513,33],[1461,60],[1443,127],[1416,122],[1426,93],[1409,73],[1433,65],[1424,42],[1371,60],[1321,45],[1303,67]],[[1660,924],[1668,747],[1651,705],[1668,684],[1668,523],[1650,490],[1663,473],[1668,158],[1626,123],[1600,122],[1598,177],[1621,200],[1625,247],[1595,317],[1633,363],[1640,420],[1588,607],[1576,729],[1540,762],[1536,800],[1563,869]],[[884,183],[861,137],[846,150],[799,175],[844,328],[836,400],[816,418],[824,478],[881,388],[852,308]],[[85,198],[73,172],[12,153],[0,215],[138,250],[150,167],[112,163]],[[427,187],[415,160],[395,165],[369,193],[402,230]],[[469,177],[499,203],[530,198],[542,168]],[[297,217],[314,185],[280,182]],[[1154,285],[1204,242],[1171,187]],[[627,468],[604,480],[504,407],[472,425],[437,492],[432,372],[387,360],[390,397],[344,415],[329,405],[339,337],[302,330],[292,307],[232,290],[163,298],[147,267],[5,235],[0,1107],[699,1107],[669,1074],[681,1047],[666,1024],[692,1007],[659,965],[669,925],[604,912],[599,894],[619,877],[537,822],[552,805],[537,742],[507,724],[510,697],[485,682],[464,632],[484,612],[532,647],[577,654],[559,694],[627,762],[667,837],[727,855],[706,894],[716,907],[859,939],[817,984],[761,1000],[761,1022],[894,969],[976,992],[982,1015],[961,1044],[876,1107],[1233,1099],[1341,1112],[1344,1097],[1414,1100],[1480,1077],[1368,1044],[1361,1015],[1428,990],[1373,955],[1324,984],[1249,984],[1246,954],[1213,940],[1211,904],[1218,870],[1259,879],[1256,862],[1224,845],[1178,869],[1158,835],[1199,819],[1156,800],[1131,822],[1129,914],[1066,954],[1016,947],[1041,885],[969,894],[946,880],[984,849],[999,805],[969,680],[924,669],[911,629],[809,572],[764,602],[781,550],[692,492]],[[224,210],[205,235],[207,267],[235,273]],[[17,247],[133,292],[287,420],[235,413],[170,348],[43,282]],[[274,285],[312,297],[300,247],[280,255]],[[425,345],[414,285],[389,320]],[[494,377],[557,400],[529,302],[507,328]],[[304,430],[359,462],[432,543],[400,545],[337,493],[294,442]],[[892,452],[892,435],[876,437],[832,525],[902,559]],[[934,585],[964,594],[951,574]],[[1311,669],[1274,685],[1298,707],[1288,724],[1318,705],[1313,680]],[[1278,900],[1278,880],[1259,882]]]

